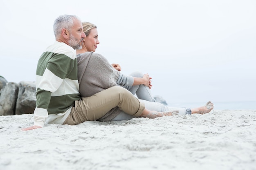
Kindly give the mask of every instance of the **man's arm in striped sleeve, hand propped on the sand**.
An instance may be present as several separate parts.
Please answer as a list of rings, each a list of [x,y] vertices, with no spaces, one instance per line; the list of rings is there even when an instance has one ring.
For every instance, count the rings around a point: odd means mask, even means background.
[[[41,57],[43,58],[43,57]],[[41,59],[40,58],[40,59]],[[36,89],[36,108],[34,110],[34,125],[24,130],[31,130],[36,129],[38,127],[43,128],[45,125],[45,119],[48,117],[48,107],[51,100],[51,94],[54,93],[59,86],[63,82],[63,78],[69,73],[68,71],[64,70],[69,69],[69,66],[72,67],[73,65],[62,66],[64,62],[61,61],[62,55],[55,55],[52,57],[46,65],[46,68],[43,64],[39,64],[36,71],[36,82],[38,83],[38,87]],[[70,60],[68,57],[66,57]],[[40,61],[40,60],[39,60]],[[39,62],[38,62],[39,63]],[[65,62],[66,64],[68,62]],[[61,70],[61,71],[60,71]],[[62,73],[64,70],[65,73]],[[54,73],[62,74],[62,77],[58,77]]]

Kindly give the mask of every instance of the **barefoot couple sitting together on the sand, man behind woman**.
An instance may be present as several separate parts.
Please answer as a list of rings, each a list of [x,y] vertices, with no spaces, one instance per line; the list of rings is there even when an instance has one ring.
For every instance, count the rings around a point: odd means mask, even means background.
[[[42,128],[45,123],[75,125],[92,120],[204,114],[213,109],[211,102],[192,109],[155,102],[150,93],[151,77],[140,72],[121,74],[119,64],[111,65],[94,53],[99,44],[97,27],[82,24],[75,15],[56,18],[54,35],[56,41],[38,61],[34,125],[23,130]]]

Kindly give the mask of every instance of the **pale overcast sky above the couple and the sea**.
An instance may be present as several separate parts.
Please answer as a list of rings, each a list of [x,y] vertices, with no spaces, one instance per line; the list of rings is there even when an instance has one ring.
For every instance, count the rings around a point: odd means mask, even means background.
[[[0,75],[34,82],[54,20],[72,14],[97,25],[96,53],[148,73],[168,103],[256,101],[255,0],[74,2],[1,0]]]

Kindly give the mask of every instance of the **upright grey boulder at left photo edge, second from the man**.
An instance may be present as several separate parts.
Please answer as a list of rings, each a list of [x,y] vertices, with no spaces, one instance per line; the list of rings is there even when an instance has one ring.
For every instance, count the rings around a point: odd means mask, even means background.
[[[18,96],[18,84],[9,82],[1,89],[0,116],[15,115],[15,106]]]

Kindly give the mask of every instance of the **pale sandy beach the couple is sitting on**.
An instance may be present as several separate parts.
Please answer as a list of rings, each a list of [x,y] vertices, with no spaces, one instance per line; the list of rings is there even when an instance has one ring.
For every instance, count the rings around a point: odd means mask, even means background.
[[[32,124],[0,116],[0,170],[256,170],[256,110]]]

